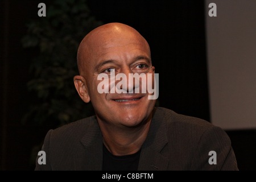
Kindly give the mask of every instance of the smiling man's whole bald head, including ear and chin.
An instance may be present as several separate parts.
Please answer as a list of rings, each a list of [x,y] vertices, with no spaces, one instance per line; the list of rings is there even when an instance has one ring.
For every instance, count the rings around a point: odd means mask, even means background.
[[[98,93],[98,75],[110,73],[152,73],[150,47],[134,28],[121,23],[109,23],[91,31],[82,40],[77,52],[80,76],[74,77],[77,92],[84,102],[92,102],[97,118],[115,126],[136,126],[150,116],[155,100],[147,93],[128,93],[134,83],[122,85],[127,93]],[[115,81],[117,84],[119,81]],[[141,84],[141,82],[140,82]],[[129,101],[127,101],[129,100]]]

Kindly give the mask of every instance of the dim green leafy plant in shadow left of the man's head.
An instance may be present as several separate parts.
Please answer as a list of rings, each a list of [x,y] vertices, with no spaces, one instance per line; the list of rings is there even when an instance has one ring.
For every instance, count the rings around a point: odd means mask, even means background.
[[[34,78],[27,83],[28,90],[36,93],[36,103],[23,122],[61,126],[94,114],[92,104],[84,103],[76,92],[73,77],[79,75],[76,54],[81,40],[101,25],[84,0],[55,0],[47,6],[46,17],[27,24],[22,46],[40,53],[31,60]]]

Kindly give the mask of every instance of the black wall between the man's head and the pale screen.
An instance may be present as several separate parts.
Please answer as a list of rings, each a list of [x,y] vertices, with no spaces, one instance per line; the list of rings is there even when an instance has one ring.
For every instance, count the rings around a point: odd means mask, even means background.
[[[160,106],[209,121],[204,1],[88,1],[104,23],[134,27],[151,47]]]

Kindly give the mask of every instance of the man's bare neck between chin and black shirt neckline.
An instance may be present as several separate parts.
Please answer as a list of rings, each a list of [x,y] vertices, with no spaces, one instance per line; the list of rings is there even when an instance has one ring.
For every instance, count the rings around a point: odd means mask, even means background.
[[[152,113],[146,121],[135,127],[115,126],[97,119],[106,148],[113,155],[130,155],[138,152],[146,140]]]

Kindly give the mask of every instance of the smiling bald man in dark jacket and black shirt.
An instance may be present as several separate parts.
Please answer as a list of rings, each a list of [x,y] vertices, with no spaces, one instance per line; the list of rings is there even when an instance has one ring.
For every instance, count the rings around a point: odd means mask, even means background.
[[[109,23],[94,29],[79,46],[77,65],[76,90],[92,102],[96,115],[49,130],[42,148],[46,164],[39,164],[38,156],[36,170],[237,170],[220,127],[154,107],[149,99],[154,93],[147,89],[148,83],[156,86],[150,47],[134,28]],[[147,82],[123,80],[136,73]],[[108,92],[98,90],[102,75]],[[118,75],[122,84],[112,80]],[[134,92],[143,84],[146,93]],[[113,88],[122,92],[110,92]]]

